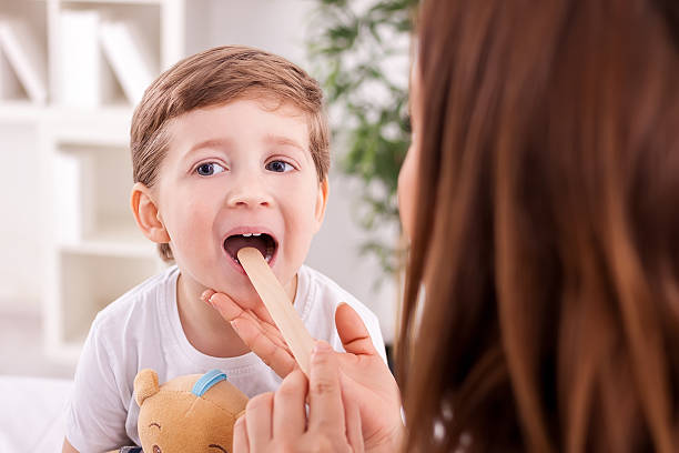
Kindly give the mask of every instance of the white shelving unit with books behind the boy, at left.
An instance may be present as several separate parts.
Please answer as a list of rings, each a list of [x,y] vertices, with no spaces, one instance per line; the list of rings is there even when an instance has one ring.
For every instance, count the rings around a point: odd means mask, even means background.
[[[33,128],[43,160],[43,341],[58,361],[74,362],[97,312],[163,266],[130,212],[129,130],[143,89],[186,54],[185,11],[185,0],[0,0],[0,123]]]

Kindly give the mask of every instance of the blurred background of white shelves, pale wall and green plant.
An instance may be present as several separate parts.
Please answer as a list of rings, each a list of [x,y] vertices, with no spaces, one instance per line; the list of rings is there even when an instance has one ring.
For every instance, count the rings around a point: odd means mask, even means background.
[[[162,269],[128,208],[133,105],[179,59],[246,44],[324,85],[331,198],[307,264],[394,339],[413,0],[0,0],[0,375],[70,379],[95,313]]]

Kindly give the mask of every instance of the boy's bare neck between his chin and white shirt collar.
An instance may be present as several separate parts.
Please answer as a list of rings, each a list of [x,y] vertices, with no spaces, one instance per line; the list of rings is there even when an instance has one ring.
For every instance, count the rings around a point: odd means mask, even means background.
[[[235,358],[249,353],[250,348],[233,330],[231,323],[201,301],[204,290],[205,288],[180,272],[176,282],[176,305],[186,340],[203,354],[215,358]],[[285,288],[292,301],[296,291],[297,275]]]

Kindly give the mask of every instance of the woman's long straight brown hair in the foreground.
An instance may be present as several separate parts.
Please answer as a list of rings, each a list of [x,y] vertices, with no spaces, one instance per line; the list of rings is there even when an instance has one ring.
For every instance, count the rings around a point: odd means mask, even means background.
[[[420,12],[406,451],[679,451],[678,8]]]

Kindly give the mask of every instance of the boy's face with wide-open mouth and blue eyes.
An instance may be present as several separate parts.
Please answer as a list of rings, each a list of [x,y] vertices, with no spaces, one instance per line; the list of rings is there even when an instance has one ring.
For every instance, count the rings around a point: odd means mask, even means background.
[[[241,99],[174,119],[156,188],[183,278],[244,308],[259,298],[235,260],[239,248],[260,249],[290,286],[325,212],[327,184],[318,183],[306,117],[292,104],[272,107]]]

